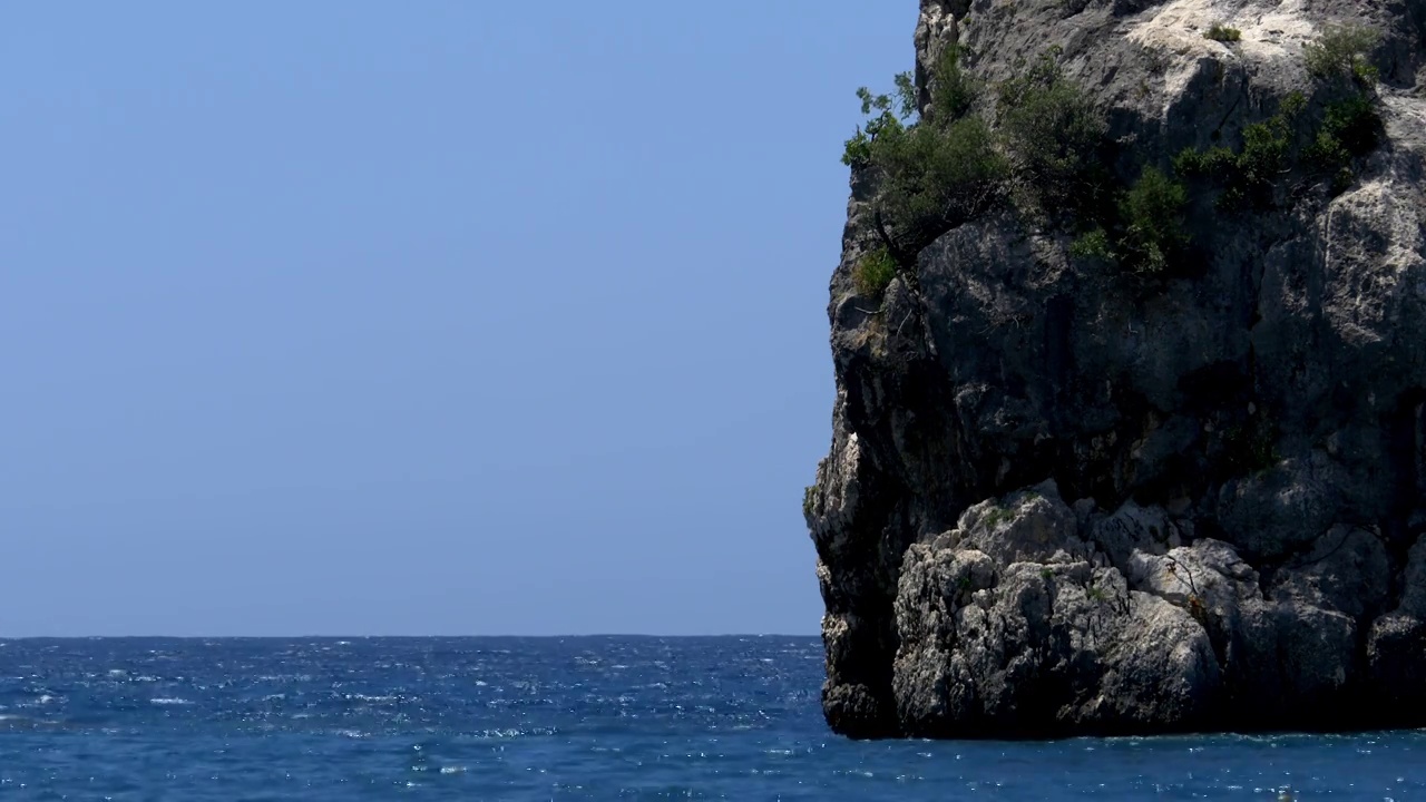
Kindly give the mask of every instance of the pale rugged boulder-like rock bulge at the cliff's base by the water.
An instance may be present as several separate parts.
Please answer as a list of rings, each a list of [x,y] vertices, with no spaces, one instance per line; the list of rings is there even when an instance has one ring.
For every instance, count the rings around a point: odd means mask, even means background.
[[[961,528],[911,545],[896,599],[893,679],[906,732],[1199,722],[1219,668],[1186,598],[1131,592],[1117,568],[1092,558],[1052,485],[977,504]]]

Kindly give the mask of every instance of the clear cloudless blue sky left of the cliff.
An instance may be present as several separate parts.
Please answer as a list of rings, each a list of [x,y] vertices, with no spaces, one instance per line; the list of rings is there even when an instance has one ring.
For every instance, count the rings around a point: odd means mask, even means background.
[[[911,0],[7,3],[0,635],[813,634]]]

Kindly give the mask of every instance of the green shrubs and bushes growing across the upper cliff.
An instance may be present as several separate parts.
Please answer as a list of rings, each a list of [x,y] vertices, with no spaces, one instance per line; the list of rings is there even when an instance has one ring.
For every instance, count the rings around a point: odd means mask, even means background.
[[[1242,39],[1222,23],[1204,36]],[[1181,263],[1176,254],[1191,245],[1195,196],[1212,193],[1219,213],[1271,208],[1282,201],[1283,176],[1303,163],[1330,174],[1333,191],[1350,184],[1353,160],[1380,140],[1370,91],[1376,67],[1369,60],[1379,41],[1372,29],[1329,26],[1306,46],[1313,76],[1350,78],[1355,87],[1349,97],[1338,91],[1325,107],[1315,100],[1313,117],[1325,111],[1313,134],[1301,130],[1308,98],[1292,93],[1273,116],[1242,128],[1235,147],[1186,148],[1172,160],[1172,171],[1147,164],[1128,186],[1102,167],[1112,163],[1108,123],[1064,74],[1058,49],[1018,63],[1017,74],[987,87],[963,70],[961,50],[948,46],[930,86],[917,87],[903,73],[890,94],[857,93],[868,118],[847,140],[843,161],[870,170],[876,194],[868,228],[880,240],[857,264],[857,287],[867,295],[883,293],[923,247],[1005,203],[1037,225],[1077,233],[1070,244],[1075,258],[1145,275],[1172,273]],[[920,100],[928,103],[921,107]],[[998,522],[994,515],[987,521]]]

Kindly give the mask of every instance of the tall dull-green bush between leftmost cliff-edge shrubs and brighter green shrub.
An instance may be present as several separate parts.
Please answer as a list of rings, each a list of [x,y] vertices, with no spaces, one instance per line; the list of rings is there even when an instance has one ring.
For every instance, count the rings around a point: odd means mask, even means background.
[[[1108,124],[1084,90],[1064,77],[1055,51],[1000,86],[997,117],[1004,151],[1032,211],[1078,205],[1092,184]]]

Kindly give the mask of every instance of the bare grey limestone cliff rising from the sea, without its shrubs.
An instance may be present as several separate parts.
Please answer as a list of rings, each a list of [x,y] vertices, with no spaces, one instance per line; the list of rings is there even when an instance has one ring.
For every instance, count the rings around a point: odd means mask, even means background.
[[[864,297],[853,176],[806,505],[833,729],[1426,726],[1426,0],[923,0],[914,43],[923,83],[947,41],[987,81],[1060,46],[1127,171],[1310,97],[1329,21],[1385,34],[1380,144],[1195,214],[1192,274],[1002,207]]]

